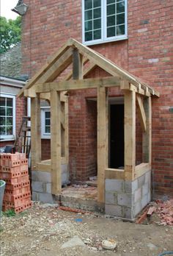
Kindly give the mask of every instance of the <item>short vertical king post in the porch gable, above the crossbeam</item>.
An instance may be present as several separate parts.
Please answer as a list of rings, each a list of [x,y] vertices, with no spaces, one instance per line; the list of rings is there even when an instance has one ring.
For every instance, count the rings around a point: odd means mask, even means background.
[[[83,79],[83,55],[73,49],[73,79]]]

